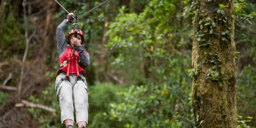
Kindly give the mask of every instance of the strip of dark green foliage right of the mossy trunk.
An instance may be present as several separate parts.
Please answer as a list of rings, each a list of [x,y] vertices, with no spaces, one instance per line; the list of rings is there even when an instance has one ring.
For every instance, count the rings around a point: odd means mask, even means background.
[[[247,1],[246,8],[243,8],[243,12],[250,13],[255,10],[256,4]],[[256,24],[247,24],[243,22],[243,19],[237,19],[239,24],[235,29],[235,42],[236,49],[239,52],[237,56],[237,113],[243,116],[255,117],[255,92],[256,92],[256,38],[255,27]],[[255,23],[256,19],[250,19]],[[244,52],[246,51],[246,52]],[[239,119],[240,120],[240,119]],[[245,119],[244,119],[245,120]],[[246,122],[249,126],[255,126],[255,118],[251,119],[251,122]]]

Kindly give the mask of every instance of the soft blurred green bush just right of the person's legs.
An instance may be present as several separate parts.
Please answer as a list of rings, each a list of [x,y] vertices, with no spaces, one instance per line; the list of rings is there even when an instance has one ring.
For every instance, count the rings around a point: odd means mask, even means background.
[[[90,128],[120,128],[120,124],[109,120],[107,115],[109,104],[120,103],[117,95],[123,87],[112,83],[96,83],[89,87],[89,127]]]

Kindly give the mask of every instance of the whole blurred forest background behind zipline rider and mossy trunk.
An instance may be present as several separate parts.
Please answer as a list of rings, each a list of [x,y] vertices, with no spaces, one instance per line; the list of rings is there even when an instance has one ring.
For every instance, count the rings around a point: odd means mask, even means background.
[[[81,15],[103,0],[59,2]],[[110,0],[79,19],[91,56],[89,128],[194,126],[190,3]],[[256,127],[255,8],[255,0],[235,0],[240,128]],[[66,15],[54,0],[0,0],[0,128],[62,127],[54,89],[56,28]]]

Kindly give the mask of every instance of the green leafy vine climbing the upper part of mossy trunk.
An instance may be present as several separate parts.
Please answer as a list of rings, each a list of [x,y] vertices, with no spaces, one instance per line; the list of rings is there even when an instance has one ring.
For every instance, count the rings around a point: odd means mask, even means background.
[[[199,3],[197,0],[185,0],[188,6],[184,8],[185,12],[192,14],[192,20],[195,25],[195,38],[199,44],[200,52],[204,52],[205,49],[212,45],[212,38],[217,37],[220,39],[221,43],[229,42],[231,40],[231,28],[229,27],[228,18],[226,15],[226,8],[229,8],[229,3],[226,5],[223,3],[217,3],[216,1],[208,0],[207,8],[209,12],[200,11],[199,13]],[[212,16],[213,15],[213,16]],[[234,15],[232,15],[234,17]],[[211,79],[212,81],[225,81],[222,77],[224,73],[221,72],[222,62],[219,59],[217,53],[206,52],[207,60],[205,63],[211,64],[207,72],[205,79]],[[196,69],[191,69],[190,76],[195,77]]]

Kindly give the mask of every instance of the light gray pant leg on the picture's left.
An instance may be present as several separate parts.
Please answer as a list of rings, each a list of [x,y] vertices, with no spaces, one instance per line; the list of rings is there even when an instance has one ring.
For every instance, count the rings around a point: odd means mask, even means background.
[[[70,119],[74,121],[74,105],[72,99],[72,85],[71,83],[64,79],[59,87],[59,106],[61,108],[61,123],[64,124],[64,121]]]

